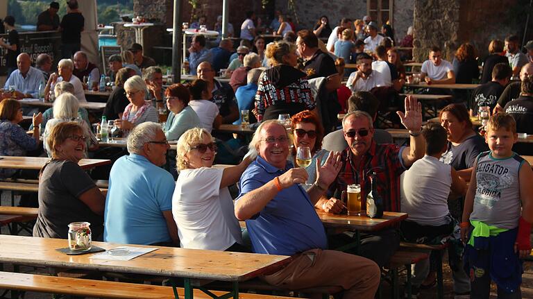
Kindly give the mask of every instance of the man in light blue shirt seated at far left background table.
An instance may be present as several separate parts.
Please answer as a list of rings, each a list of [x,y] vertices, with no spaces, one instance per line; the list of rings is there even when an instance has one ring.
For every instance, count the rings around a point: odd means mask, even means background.
[[[3,88],[8,90],[10,86],[15,86],[17,99],[39,98],[39,85],[46,82],[42,72],[31,67],[30,55],[20,53],[17,56],[17,68],[10,74]]]

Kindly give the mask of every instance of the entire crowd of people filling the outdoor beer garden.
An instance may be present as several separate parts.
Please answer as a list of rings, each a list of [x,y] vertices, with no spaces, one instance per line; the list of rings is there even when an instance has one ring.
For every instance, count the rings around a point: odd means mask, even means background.
[[[521,259],[530,254],[533,221],[533,171],[520,155],[533,151],[516,142],[517,132],[533,134],[532,41],[526,55],[516,35],[492,40],[481,71],[472,44],[460,45],[451,62],[432,46],[421,66],[423,82],[480,85],[471,94],[451,93],[439,123],[422,126],[421,103],[412,96],[398,101],[409,76],[394,46],[412,46],[412,28],[395,40],[391,26],[380,27],[369,16],[344,18],[332,28],[324,15],[314,28],[296,31],[287,15],[276,12],[265,27],[279,38],[267,44],[249,11],[235,53],[230,39],[208,49],[205,36],[192,37],[184,65],[195,76],[191,83],[164,88],[162,69],[141,44],[110,56],[115,87],[103,116],[127,138],[127,153],[117,155],[99,152],[87,110],[79,105],[86,101],[84,89],[98,88],[102,73],[80,51],[77,2],[68,6],[62,22],[56,2],[38,17],[38,30],[63,28],[65,58],[57,72],[46,54],[32,67],[30,56],[18,53],[15,20],[3,20],[9,42],[0,46],[14,63],[1,94],[0,155],[29,155],[42,143],[52,158],[38,175],[33,236],[66,238],[69,223],[88,221],[94,240],[290,255],[287,266],[262,280],[289,290],[341,287],[342,298],[373,298],[380,268],[400,240],[449,242],[455,298],[488,298],[491,280],[498,296],[520,298]],[[205,22],[201,17],[191,27]],[[346,69],[348,63],[356,69]],[[220,73],[229,83],[217,78]],[[44,114],[25,111],[17,101],[40,96],[53,101]],[[481,107],[493,112],[484,136],[471,121]],[[407,129],[409,146],[394,144],[375,127],[390,108],[398,108],[397,124]],[[158,123],[161,110],[168,113],[164,123]],[[235,138],[216,130],[241,124],[243,111],[251,112],[255,128],[248,153],[235,165],[218,167],[217,157]],[[31,135],[19,126],[26,112],[33,114]],[[346,113],[340,123],[339,112]],[[277,120],[280,114],[291,117],[289,128]],[[169,141],[177,143],[174,156],[167,154]],[[301,147],[310,148],[307,168],[295,166]],[[114,156],[107,194],[96,187],[94,173],[78,166],[102,153]],[[0,169],[0,178],[13,176],[35,173]],[[399,228],[362,234],[357,254],[341,253],[330,248],[353,237],[326,235],[316,210],[345,212],[339,194],[354,184],[363,207],[371,191],[378,192],[384,211],[409,218]],[[235,185],[238,191],[232,191]],[[246,221],[244,232],[239,221]],[[414,266],[414,294],[434,284],[434,254]]]

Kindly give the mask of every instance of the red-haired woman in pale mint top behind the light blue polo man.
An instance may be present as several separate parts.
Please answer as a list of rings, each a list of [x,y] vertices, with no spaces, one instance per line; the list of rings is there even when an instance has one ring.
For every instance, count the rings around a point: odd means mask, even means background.
[[[167,108],[170,110],[164,125],[164,135],[167,136],[167,140],[178,140],[186,130],[200,126],[198,114],[189,106],[191,94],[187,87],[180,83],[170,85],[164,95],[167,97]]]

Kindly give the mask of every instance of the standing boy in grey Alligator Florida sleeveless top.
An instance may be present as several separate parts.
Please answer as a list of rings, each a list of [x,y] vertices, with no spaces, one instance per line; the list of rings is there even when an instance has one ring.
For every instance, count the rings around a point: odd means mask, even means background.
[[[491,151],[475,160],[461,223],[471,298],[489,298],[491,280],[498,298],[521,298],[521,259],[531,251],[533,171],[512,151],[517,138],[513,117],[493,115],[485,135]]]

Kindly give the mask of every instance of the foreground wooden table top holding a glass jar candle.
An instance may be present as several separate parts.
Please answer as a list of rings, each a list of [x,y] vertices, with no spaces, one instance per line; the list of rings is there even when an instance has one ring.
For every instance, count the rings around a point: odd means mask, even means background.
[[[124,244],[107,242],[92,242],[92,244],[107,250],[124,246]],[[56,249],[67,247],[66,239],[2,234],[0,235],[0,262],[205,280],[244,281],[267,271],[275,271],[291,261],[291,257],[285,255],[131,246],[158,249],[129,261],[90,259],[94,254],[66,255],[58,252]]]

